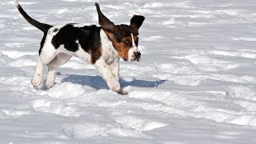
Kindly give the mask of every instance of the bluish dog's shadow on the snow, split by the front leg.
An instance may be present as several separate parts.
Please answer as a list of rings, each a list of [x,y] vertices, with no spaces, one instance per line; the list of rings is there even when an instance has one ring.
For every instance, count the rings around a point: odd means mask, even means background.
[[[75,75],[70,74],[68,77],[63,78],[62,82],[72,82],[75,84],[79,84],[82,86],[90,86],[95,90],[107,89],[106,82],[100,76],[86,76],[86,75]],[[157,80],[154,82],[144,81],[144,80],[133,80],[131,82],[126,82],[122,78],[120,78],[120,84],[122,87],[125,86],[136,86],[136,87],[157,87],[162,83],[166,82],[166,80]]]

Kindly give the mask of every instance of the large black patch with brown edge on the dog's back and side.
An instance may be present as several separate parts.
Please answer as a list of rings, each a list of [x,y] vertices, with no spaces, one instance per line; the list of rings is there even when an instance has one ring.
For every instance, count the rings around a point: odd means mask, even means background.
[[[82,49],[91,55],[91,62],[94,64],[102,55],[101,29],[102,27],[95,25],[74,27],[73,24],[68,24],[58,31],[58,34],[54,36],[51,42],[55,49],[64,45],[66,50],[72,52],[78,51],[77,42],[79,42]]]

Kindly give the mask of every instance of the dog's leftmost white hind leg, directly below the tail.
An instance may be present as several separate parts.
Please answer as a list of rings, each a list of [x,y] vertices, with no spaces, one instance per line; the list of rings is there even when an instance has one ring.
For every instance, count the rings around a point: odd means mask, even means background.
[[[37,68],[34,72],[34,76],[31,81],[32,85],[36,88],[38,88],[38,86],[40,86],[40,83],[42,82],[44,67],[45,67],[45,64],[42,62],[41,58],[38,57]]]

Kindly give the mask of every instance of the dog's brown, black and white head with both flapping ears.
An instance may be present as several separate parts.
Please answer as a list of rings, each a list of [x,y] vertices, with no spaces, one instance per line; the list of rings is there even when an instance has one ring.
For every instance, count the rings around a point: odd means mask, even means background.
[[[107,37],[112,42],[114,49],[117,50],[118,56],[124,61],[139,61],[141,53],[138,50],[138,29],[142,26],[144,17],[134,15],[128,25],[114,25],[104,14],[102,14],[98,3],[95,3],[98,11],[98,22],[105,31]]]

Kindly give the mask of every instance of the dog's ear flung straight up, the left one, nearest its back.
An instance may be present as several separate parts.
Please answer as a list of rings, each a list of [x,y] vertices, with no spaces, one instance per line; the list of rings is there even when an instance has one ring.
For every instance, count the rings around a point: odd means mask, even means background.
[[[114,23],[111,22],[108,18],[106,18],[106,16],[104,14],[102,14],[101,9],[98,6],[98,3],[95,3],[95,6],[97,8],[97,12],[98,12],[98,23],[99,25],[101,25],[103,27],[103,29],[108,30],[110,32],[114,31]]]

